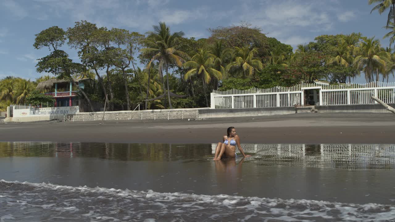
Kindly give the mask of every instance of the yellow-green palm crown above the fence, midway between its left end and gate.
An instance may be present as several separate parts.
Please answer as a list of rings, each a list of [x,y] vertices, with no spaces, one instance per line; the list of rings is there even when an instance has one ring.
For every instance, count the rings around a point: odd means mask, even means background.
[[[226,66],[226,70],[232,70],[232,69],[242,69],[243,70],[243,77],[245,78],[247,75],[252,75],[254,73],[254,70],[262,70],[263,64],[260,61],[259,58],[254,57],[254,54],[258,53],[258,50],[256,48],[251,49],[248,46],[245,47],[235,47],[234,48],[234,53],[235,53],[235,60],[234,62],[231,62]]]

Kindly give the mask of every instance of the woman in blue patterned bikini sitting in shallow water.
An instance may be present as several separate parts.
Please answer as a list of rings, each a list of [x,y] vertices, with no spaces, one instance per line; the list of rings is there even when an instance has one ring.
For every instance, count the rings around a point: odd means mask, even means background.
[[[243,157],[250,157],[244,154],[240,146],[240,137],[236,135],[236,129],[231,126],[228,128],[228,135],[224,135],[223,142],[219,142],[215,148],[214,160],[220,160],[222,157],[236,158],[236,145]]]

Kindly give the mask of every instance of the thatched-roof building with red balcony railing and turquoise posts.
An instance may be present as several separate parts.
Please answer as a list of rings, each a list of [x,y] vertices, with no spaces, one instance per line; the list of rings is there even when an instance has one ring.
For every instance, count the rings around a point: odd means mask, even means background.
[[[80,88],[84,89],[84,81],[93,81],[93,79],[74,79],[73,81]],[[43,92],[47,91],[44,94],[52,96],[56,100],[55,107],[79,105],[79,91],[71,81],[65,79],[49,79],[38,83],[36,89]]]

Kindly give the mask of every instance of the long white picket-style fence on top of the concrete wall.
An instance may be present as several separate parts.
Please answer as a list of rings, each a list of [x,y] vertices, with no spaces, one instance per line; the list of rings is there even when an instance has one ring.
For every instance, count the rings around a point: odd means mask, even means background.
[[[314,81],[293,87],[273,87],[249,90],[213,90],[212,109],[238,109],[263,107],[292,107],[306,105],[306,90],[316,90],[316,105],[351,105],[377,103],[376,96],[385,103],[395,103],[395,83],[372,82],[366,84],[329,83]]]

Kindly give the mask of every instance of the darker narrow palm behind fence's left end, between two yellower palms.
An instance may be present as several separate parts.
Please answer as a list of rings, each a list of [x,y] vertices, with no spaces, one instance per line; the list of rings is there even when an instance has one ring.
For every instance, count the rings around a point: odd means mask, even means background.
[[[214,68],[222,72],[222,79],[226,77],[226,69],[224,65],[229,62],[231,58],[231,50],[224,47],[222,40],[216,40],[213,45],[209,45],[211,56],[214,58]],[[213,78],[213,89],[218,89],[218,81]]]

